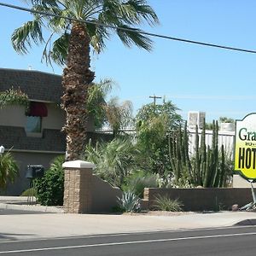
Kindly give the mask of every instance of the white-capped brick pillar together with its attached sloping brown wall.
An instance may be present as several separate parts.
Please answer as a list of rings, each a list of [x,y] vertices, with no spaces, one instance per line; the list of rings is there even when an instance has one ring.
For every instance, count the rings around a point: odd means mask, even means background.
[[[121,197],[121,190],[93,175],[93,164],[74,160],[65,162],[63,168],[64,212],[112,212],[113,207],[117,206],[117,196]]]

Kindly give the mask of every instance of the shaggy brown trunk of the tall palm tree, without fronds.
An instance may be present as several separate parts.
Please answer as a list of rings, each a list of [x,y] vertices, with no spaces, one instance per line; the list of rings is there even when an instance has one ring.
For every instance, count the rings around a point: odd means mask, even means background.
[[[86,143],[88,113],[86,98],[89,84],[94,79],[90,71],[90,38],[86,27],[74,22],[69,41],[67,67],[63,71],[62,108],[66,111],[66,160],[79,160]]]

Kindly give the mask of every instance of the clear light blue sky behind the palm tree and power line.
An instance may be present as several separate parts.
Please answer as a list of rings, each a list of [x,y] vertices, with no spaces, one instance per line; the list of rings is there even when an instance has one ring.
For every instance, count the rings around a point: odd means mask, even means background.
[[[2,3],[26,7],[20,0]],[[256,1],[254,0],[149,0],[160,25],[142,26],[173,38],[256,50]],[[62,67],[41,63],[43,47],[18,55],[11,34],[27,20],[29,13],[0,6],[0,67],[62,73]],[[152,38],[153,50],[125,47],[112,37],[100,55],[91,55],[95,81],[113,79],[118,86],[113,96],[129,100],[134,113],[149,96],[172,101],[184,119],[189,111],[206,112],[207,122],[225,116],[243,119],[256,112],[256,54],[216,49],[195,44]],[[162,100],[157,100],[161,103]]]

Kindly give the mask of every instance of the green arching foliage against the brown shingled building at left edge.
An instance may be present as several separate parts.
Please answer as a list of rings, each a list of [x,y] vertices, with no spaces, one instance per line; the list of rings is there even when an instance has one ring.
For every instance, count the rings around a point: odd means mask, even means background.
[[[9,105],[22,105],[28,107],[28,96],[20,89],[14,90],[13,88],[0,92],[0,108]]]

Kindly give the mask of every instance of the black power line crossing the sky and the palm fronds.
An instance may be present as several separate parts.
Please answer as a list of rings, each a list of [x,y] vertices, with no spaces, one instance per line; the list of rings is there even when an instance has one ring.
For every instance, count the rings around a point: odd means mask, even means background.
[[[48,15],[48,16],[53,16],[53,17],[57,17],[57,18],[67,19],[67,20],[84,22],[85,24],[87,23],[87,24],[93,24],[93,25],[96,25],[96,26],[105,26],[105,27],[109,27],[109,28],[113,28],[113,29],[119,29],[119,30],[123,30],[123,31],[127,31],[127,32],[140,32],[143,35],[147,35],[147,36],[154,37],[154,38],[164,38],[164,39],[179,41],[179,42],[188,43],[188,44],[199,44],[199,45],[214,47],[214,48],[219,48],[219,49],[229,49],[229,50],[235,50],[235,51],[241,51],[241,52],[256,54],[256,50],[253,50],[253,49],[241,49],[241,48],[235,48],[235,47],[224,46],[224,45],[219,45],[219,44],[209,44],[209,43],[205,43],[205,42],[194,41],[194,40],[183,39],[183,38],[173,38],[173,37],[166,36],[166,35],[160,35],[160,34],[150,33],[150,32],[143,32],[143,31],[141,31],[137,28],[125,28],[125,27],[119,27],[119,26],[106,25],[106,24],[91,21],[91,20],[79,20],[79,19],[75,19],[75,18],[72,18],[72,17],[50,14],[50,13],[47,13],[47,12],[41,12],[41,11],[34,10],[34,9],[27,9],[27,8],[24,8],[24,7],[20,7],[20,6],[16,6],[16,5],[8,4],[8,3],[0,3],[0,6],[8,7],[8,8],[11,8],[11,9],[19,9],[19,10],[26,11],[26,12],[29,12],[29,13],[32,13],[32,14]]]

